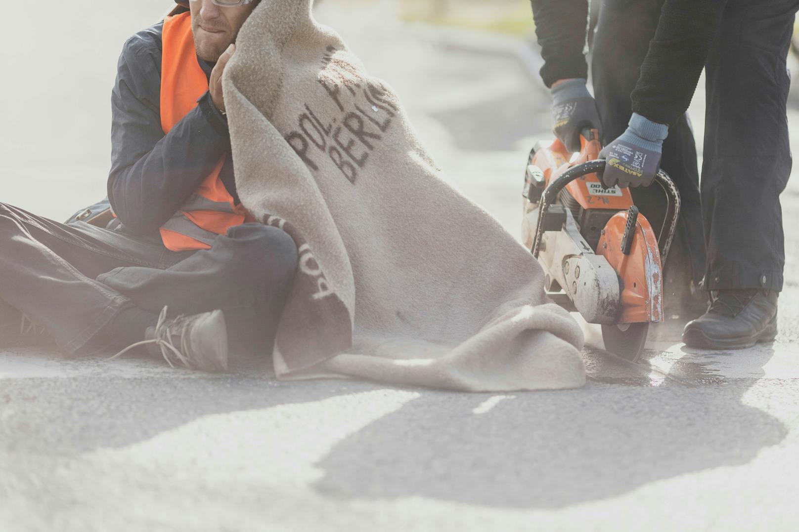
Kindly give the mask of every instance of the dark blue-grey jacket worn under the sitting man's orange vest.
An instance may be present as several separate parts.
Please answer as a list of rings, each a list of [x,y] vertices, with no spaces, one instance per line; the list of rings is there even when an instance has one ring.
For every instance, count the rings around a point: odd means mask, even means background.
[[[230,151],[227,121],[210,93],[168,134],[161,129],[163,26],[159,22],[125,42],[111,95],[108,197],[125,229],[141,235],[157,232]],[[197,61],[210,77],[213,66]],[[231,157],[221,179],[238,201]]]

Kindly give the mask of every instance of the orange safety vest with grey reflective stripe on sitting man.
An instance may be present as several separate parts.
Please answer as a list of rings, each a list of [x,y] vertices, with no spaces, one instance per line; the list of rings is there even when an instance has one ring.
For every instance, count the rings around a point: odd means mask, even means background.
[[[164,19],[161,58],[161,129],[169,133],[209,89],[208,77],[197,62],[191,14],[186,11]],[[161,226],[161,239],[172,251],[208,249],[228,228],[244,223],[247,212],[235,204],[220,173],[227,154],[183,204]]]

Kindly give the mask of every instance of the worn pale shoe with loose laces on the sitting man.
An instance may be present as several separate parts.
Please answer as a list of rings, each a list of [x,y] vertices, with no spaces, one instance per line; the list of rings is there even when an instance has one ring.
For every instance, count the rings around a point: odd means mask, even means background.
[[[123,355],[144,345],[156,356],[163,356],[170,366],[182,364],[201,371],[225,371],[228,368],[228,332],[221,310],[193,316],[167,318],[167,308],[158,316],[158,323],[145,332],[145,340],[113,355]]]

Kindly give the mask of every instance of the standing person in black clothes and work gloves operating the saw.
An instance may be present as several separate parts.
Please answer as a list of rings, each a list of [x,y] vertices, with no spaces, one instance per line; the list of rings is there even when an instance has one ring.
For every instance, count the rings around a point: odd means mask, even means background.
[[[706,69],[704,224],[691,218],[687,229],[704,225],[712,303],[682,339],[708,348],[773,340],[785,266],[779,197],[791,171],[785,58],[799,0],[605,0],[594,40],[598,113],[586,89],[587,1],[532,5],[558,137],[574,146],[601,116],[602,157],[617,161],[602,181],[649,185],[662,162],[689,215],[698,179],[686,110]]]

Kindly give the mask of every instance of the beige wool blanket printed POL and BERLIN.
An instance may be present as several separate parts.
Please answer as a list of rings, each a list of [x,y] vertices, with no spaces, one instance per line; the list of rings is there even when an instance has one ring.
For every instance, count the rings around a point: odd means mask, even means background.
[[[396,95],[312,0],[263,0],[225,70],[240,199],[300,252],[280,378],[579,387],[582,332],[543,272],[436,168]]]

